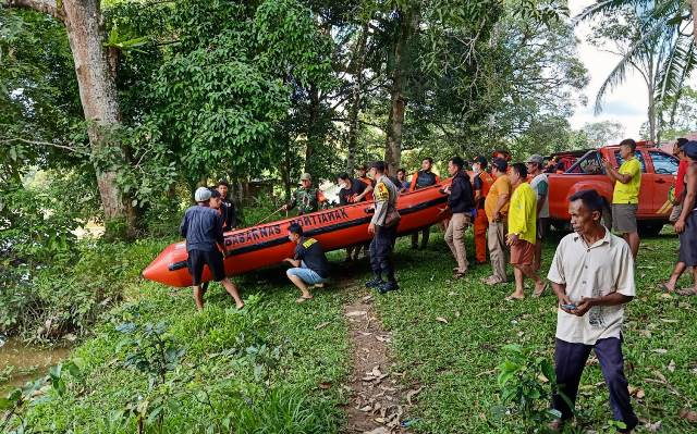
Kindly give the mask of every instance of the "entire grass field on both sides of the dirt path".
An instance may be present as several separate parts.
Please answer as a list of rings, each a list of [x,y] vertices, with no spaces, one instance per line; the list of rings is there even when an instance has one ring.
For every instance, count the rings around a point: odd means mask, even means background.
[[[409,408],[409,431],[521,432],[515,417],[491,417],[490,408],[500,404],[496,367],[504,359],[501,348],[506,344],[531,346],[551,359],[555,297],[549,292],[539,299],[505,301],[512,284],[490,288],[479,283],[489,274],[488,266],[451,282],[454,262],[442,234],[433,232],[431,239],[426,251],[408,250],[406,238],[400,240],[401,290],[376,297],[383,325],[392,332],[395,369],[406,373],[405,386],[424,387]],[[557,241],[546,246],[546,264]],[[693,431],[695,425],[680,413],[697,407],[697,298],[656,288],[670,274],[676,247],[672,235],[644,241],[637,262],[638,296],[628,306],[624,334],[626,374],[641,396],[634,399],[635,410],[645,421],[660,421],[660,432],[667,433]],[[341,255],[331,258],[338,261]],[[342,282],[368,277],[367,264],[358,270]],[[346,401],[342,385],[351,369],[341,308],[350,294],[338,285],[297,306],[297,294],[280,270],[250,274],[239,283],[245,298],[260,295],[243,314],[229,310],[231,299],[217,285],[206,311],[194,314],[188,290],[137,284],[130,292],[132,300],[112,311],[96,336],[74,351],[83,365],[81,377],[69,382],[64,397],[49,394],[53,398],[35,406],[28,420],[52,432],[131,433],[136,419],[121,418],[129,402],[140,397],[157,404],[164,397],[163,419],[160,425],[155,420],[151,430],[339,432],[344,423],[340,405]],[[687,285],[687,278],[683,283]],[[114,327],[160,321],[186,352],[163,384],[149,388],[146,373],[124,368],[124,336]],[[607,389],[592,359],[577,408],[584,430],[611,432]]]

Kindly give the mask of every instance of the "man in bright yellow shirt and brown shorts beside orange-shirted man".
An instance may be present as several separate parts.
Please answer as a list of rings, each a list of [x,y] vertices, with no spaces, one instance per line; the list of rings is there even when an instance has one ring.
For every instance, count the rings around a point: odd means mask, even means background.
[[[527,168],[523,163],[511,166],[509,175],[513,196],[509,208],[509,234],[506,244],[511,246],[511,265],[515,276],[515,292],[508,299],[523,299],[525,276],[535,281],[535,296],[545,292],[545,282],[535,271],[535,243],[537,241],[537,194],[527,181]]]

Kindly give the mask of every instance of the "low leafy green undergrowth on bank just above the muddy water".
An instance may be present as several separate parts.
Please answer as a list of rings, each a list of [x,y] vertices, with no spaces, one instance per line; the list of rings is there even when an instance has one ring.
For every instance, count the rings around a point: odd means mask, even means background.
[[[85,335],[137,282],[162,244],[82,241],[69,257],[27,271],[0,287],[0,332],[42,343]]]

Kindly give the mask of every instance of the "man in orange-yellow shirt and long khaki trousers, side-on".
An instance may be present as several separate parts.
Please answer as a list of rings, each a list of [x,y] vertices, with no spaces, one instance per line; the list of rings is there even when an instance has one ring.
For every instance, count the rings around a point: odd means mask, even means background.
[[[491,175],[493,175],[497,181],[494,181],[489,189],[489,194],[484,202],[484,209],[489,220],[487,247],[489,248],[492,274],[482,282],[490,286],[506,283],[508,281],[505,275],[505,216],[509,212],[509,198],[511,197],[511,182],[505,174],[508,168],[509,163],[506,163],[505,160],[491,160]]]

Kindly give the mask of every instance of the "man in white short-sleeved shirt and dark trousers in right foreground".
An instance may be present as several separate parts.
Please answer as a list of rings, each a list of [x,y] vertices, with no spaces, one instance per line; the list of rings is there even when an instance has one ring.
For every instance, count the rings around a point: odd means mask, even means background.
[[[559,392],[574,404],[595,349],[614,419],[624,422],[621,432],[628,433],[638,419],[624,376],[622,322],[624,305],[636,294],[634,259],[627,243],[602,225],[603,204],[596,190],[582,190],[570,198],[574,233],[559,244],[548,274],[559,298],[554,363]],[[572,408],[561,395],[554,396],[552,406],[562,414],[552,424],[559,429],[573,417]]]

